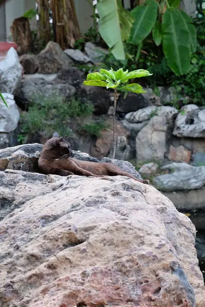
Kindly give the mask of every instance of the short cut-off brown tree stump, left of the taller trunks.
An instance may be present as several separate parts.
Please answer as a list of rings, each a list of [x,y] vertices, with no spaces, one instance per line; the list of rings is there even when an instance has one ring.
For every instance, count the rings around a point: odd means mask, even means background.
[[[13,20],[11,26],[13,41],[15,41],[19,55],[28,53],[32,50],[32,35],[29,26],[29,19],[19,17]]]

